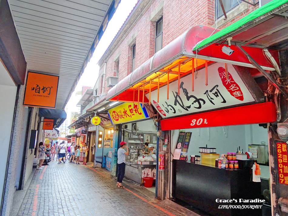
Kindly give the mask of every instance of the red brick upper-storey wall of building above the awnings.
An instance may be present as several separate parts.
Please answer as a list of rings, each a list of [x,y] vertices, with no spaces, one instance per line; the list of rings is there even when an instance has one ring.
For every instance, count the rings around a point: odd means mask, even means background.
[[[144,4],[143,2],[140,4]],[[107,61],[104,83],[105,93],[110,89],[107,87],[106,79],[109,76],[116,76],[116,61],[119,60],[118,81],[122,80],[132,72],[131,46],[133,44],[136,43],[135,68],[142,65],[154,55],[156,21],[162,15],[162,47],[164,47],[193,26],[206,25],[222,29],[240,18],[243,18],[244,15],[247,15],[259,7],[259,4],[252,6],[242,2],[240,5],[237,5],[231,11],[227,12],[228,18],[226,20],[224,20],[224,16],[218,18],[216,25],[214,0],[155,0],[152,3],[151,1],[146,1],[145,4],[148,5],[145,12],[135,12],[136,14],[143,13],[142,16],[139,15],[140,17],[137,18],[135,18],[136,15],[130,16],[129,19],[136,21],[131,21],[131,23],[129,23],[129,20],[127,21],[126,25],[131,25],[131,28],[126,32],[121,43],[119,43],[119,45],[117,45],[113,50],[109,50],[108,48],[106,53],[103,55],[104,57],[99,61],[101,64],[99,65],[99,76],[103,75],[104,61]],[[101,89],[102,92],[102,81],[99,83],[99,89]]]

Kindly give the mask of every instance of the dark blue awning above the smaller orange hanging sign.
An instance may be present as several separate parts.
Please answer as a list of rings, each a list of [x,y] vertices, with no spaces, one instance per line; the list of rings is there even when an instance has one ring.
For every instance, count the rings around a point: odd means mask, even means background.
[[[58,128],[66,119],[66,112],[62,109],[39,108],[39,116],[54,120],[54,128]]]

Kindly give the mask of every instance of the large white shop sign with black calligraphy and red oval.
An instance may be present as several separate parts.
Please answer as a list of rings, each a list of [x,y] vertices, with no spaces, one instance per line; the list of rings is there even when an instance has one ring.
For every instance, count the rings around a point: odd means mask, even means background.
[[[170,83],[169,100],[167,100],[167,85],[159,89],[159,103],[157,103],[157,91],[152,91],[152,105],[162,118],[167,118],[255,101],[233,65],[227,66],[228,79],[223,63],[208,66],[207,86],[205,68],[199,70],[197,78],[194,78],[194,91],[192,91],[192,74],[180,78],[180,95],[178,95],[178,81]],[[146,96],[149,97],[149,93]]]

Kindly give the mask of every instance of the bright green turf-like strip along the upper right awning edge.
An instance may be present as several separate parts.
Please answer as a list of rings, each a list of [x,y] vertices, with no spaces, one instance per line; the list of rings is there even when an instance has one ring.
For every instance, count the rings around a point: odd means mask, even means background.
[[[222,36],[224,36],[226,34],[229,34],[229,33],[232,33],[233,31],[236,31],[238,28],[240,28],[241,26],[245,25],[246,23],[252,21],[253,19],[260,17],[260,16],[272,11],[273,9],[275,9],[275,8],[285,4],[287,2],[288,2],[287,0],[273,0],[269,3],[267,3],[266,5],[263,5],[262,7],[249,13],[248,15],[243,17],[242,19],[239,19],[237,22],[234,22],[233,24],[222,29],[221,31],[216,32],[214,35],[211,35],[210,37],[205,38],[203,41],[201,41],[199,44],[197,44],[193,48],[193,51],[195,51],[196,49],[199,49],[199,48],[203,48],[203,46],[208,45],[211,42],[214,42],[218,38],[221,38]],[[219,41],[219,40],[217,40],[217,41]],[[217,41],[215,41],[215,42],[217,42]]]

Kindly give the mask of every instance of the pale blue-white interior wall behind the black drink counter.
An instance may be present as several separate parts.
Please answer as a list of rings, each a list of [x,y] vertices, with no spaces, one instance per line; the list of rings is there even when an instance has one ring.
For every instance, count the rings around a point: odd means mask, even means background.
[[[191,141],[188,149],[189,155],[200,155],[199,147],[216,148],[218,154],[248,150],[249,144],[261,144],[265,141],[268,145],[267,129],[259,125],[236,125],[213,128],[185,129],[192,132]],[[179,130],[171,131],[172,153],[174,152]]]

